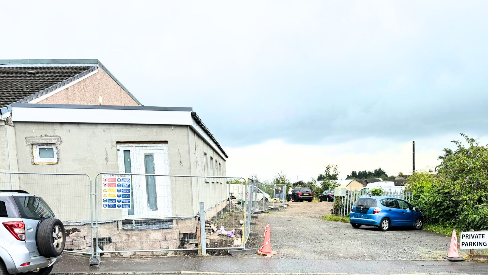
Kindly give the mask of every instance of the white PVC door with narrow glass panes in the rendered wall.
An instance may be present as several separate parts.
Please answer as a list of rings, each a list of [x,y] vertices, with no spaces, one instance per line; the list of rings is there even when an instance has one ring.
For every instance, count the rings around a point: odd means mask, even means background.
[[[119,144],[119,171],[133,174],[169,174],[166,144]],[[130,210],[122,210],[124,219],[167,218],[172,216],[169,177],[133,176]]]

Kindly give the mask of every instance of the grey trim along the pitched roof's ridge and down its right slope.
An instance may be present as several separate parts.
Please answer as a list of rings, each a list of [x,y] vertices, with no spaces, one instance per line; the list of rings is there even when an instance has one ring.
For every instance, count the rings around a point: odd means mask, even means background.
[[[142,103],[131,93],[122,83],[115,78],[115,76],[107,69],[98,59],[0,59],[0,65],[4,64],[97,64],[102,68],[110,77],[119,84],[122,89],[127,92],[137,104]]]

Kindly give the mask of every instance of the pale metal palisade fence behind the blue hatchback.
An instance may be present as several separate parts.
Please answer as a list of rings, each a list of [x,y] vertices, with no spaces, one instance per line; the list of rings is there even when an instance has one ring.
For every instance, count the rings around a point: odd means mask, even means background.
[[[336,215],[348,216],[352,206],[356,200],[360,197],[368,197],[369,193],[363,194],[359,191],[346,191],[346,196],[334,196],[334,208],[337,213]],[[382,196],[394,197],[406,200],[409,202],[412,199],[412,193],[408,191],[383,191]]]

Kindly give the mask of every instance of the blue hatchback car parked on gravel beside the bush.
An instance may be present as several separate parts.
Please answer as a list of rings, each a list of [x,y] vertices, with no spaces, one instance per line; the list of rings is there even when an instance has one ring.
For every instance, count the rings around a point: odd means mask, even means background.
[[[349,220],[353,228],[376,226],[386,231],[390,226],[408,226],[422,229],[422,213],[405,200],[385,197],[367,196],[356,200],[352,206]]]

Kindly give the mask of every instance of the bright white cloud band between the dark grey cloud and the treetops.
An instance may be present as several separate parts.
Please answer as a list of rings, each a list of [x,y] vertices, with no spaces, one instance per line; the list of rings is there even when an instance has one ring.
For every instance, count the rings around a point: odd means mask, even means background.
[[[415,168],[434,169],[443,148],[453,148],[450,140],[460,139],[459,134],[417,140],[415,143]],[[488,140],[484,137],[481,140]],[[383,168],[388,175],[412,172],[412,142],[388,139],[362,138],[338,144],[290,144],[283,140],[267,140],[260,144],[226,148],[227,175],[247,177],[256,174],[262,180],[272,180],[280,171],[295,182],[308,181],[325,170],[327,164],[337,164],[340,179],[352,170],[372,171]]]

